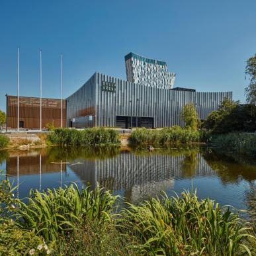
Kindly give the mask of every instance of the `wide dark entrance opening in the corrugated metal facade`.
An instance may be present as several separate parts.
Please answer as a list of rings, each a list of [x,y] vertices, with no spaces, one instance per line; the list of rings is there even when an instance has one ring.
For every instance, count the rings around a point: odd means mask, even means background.
[[[126,129],[131,127],[153,128],[153,117],[116,116],[116,127]]]

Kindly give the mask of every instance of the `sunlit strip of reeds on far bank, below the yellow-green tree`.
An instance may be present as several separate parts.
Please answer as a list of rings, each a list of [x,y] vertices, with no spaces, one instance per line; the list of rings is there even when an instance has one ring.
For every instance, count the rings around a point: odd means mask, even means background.
[[[130,139],[133,144],[188,144],[202,142],[204,136],[198,130],[171,126],[157,130],[136,129]]]

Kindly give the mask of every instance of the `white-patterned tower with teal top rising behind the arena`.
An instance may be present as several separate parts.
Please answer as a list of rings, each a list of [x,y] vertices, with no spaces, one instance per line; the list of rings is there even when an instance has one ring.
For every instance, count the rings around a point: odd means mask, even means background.
[[[173,87],[175,73],[168,71],[166,62],[144,58],[133,52],[124,59],[127,81],[163,89]]]

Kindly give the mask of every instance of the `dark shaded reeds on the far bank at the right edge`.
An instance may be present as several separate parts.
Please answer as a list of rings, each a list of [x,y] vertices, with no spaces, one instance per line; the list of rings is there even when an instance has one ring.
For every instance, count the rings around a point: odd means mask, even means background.
[[[256,157],[256,134],[232,132],[212,136],[212,144],[241,155]]]

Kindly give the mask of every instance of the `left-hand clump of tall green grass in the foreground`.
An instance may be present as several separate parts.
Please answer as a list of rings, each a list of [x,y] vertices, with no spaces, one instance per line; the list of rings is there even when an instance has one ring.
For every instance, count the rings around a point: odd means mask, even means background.
[[[97,187],[79,190],[77,185],[64,189],[31,191],[28,203],[19,201],[15,208],[17,225],[42,235],[46,242],[56,240],[83,222],[110,220],[116,196]]]

